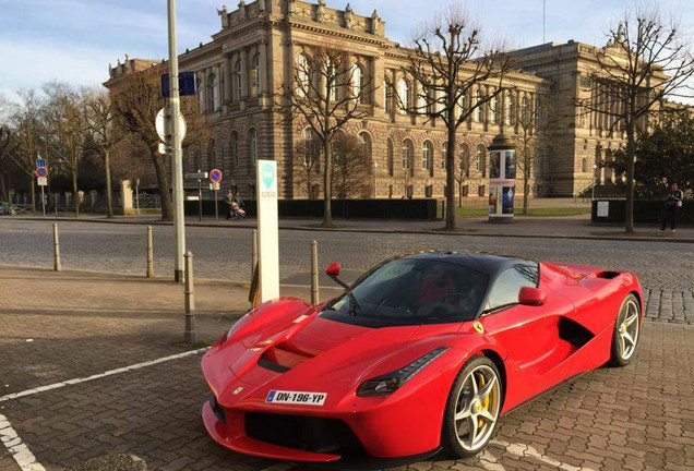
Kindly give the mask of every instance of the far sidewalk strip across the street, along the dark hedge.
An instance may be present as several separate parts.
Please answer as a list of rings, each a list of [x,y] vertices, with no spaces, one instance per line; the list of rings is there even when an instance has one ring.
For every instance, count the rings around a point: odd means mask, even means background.
[[[39,217],[14,217],[13,219],[43,219]],[[2,219],[0,219],[2,220]],[[104,224],[135,224],[135,225],[170,225],[163,222],[158,217],[152,216],[117,216],[107,219],[101,215],[86,215],[74,218],[71,216],[47,217],[46,220],[82,221]],[[255,228],[255,219],[242,221],[225,220],[214,217],[186,218],[187,226],[195,227],[229,227],[229,228]],[[314,230],[338,232],[375,232],[375,233],[436,233],[450,235],[484,235],[484,237],[519,237],[519,238],[549,238],[549,239],[589,239],[589,240],[638,240],[638,241],[668,241],[694,243],[694,227],[681,227],[677,232],[669,230],[659,232],[656,226],[639,225],[636,233],[626,235],[622,225],[594,225],[589,215],[565,217],[515,217],[513,224],[490,224],[487,218],[466,218],[457,222],[456,232],[443,231],[444,222],[420,220],[367,220],[367,219],[336,219],[335,228],[321,228],[320,219],[283,218],[279,228],[284,230]]]

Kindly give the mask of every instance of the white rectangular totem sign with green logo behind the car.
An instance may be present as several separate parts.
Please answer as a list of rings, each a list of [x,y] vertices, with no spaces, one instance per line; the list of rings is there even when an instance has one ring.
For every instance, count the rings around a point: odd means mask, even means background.
[[[277,162],[258,160],[259,286],[261,302],[279,297],[279,232],[277,218]]]

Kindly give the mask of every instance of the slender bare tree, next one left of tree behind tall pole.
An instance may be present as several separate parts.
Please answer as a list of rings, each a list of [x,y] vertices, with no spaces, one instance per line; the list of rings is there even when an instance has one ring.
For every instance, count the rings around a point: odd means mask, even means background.
[[[85,120],[89,143],[104,160],[106,172],[106,214],[113,217],[113,192],[111,189],[111,154],[122,140],[122,126],[116,122],[116,107],[108,93],[101,88],[85,94]]]

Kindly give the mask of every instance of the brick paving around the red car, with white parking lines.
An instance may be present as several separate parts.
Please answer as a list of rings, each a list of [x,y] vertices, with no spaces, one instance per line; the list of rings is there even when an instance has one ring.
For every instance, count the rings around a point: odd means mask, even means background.
[[[2,400],[186,350],[178,345],[181,288],[174,283],[9,268],[0,269],[0,428],[5,416],[46,470],[105,454],[135,455],[151,470],[304,469],[237,455],[207,437],[199,415],[207,394],[200,354]],[[206,338],[246,305],[246,290],[228,283],[199,283],[196,294]],[[694,327],[648,323],[630,366],[586,374],[504,416],[478,458],[439,456],[408,469],[691,470],[692,359]],[[19,470],[0,445],[0,471]]]

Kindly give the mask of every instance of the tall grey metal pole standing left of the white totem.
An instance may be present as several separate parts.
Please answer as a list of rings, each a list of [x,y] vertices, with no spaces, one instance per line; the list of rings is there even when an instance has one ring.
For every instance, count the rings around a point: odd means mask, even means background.
[[[176,261],[174,279],[183,282],[183,255],[186,253],[186,220],[183,215],[183,161],[181,149],[181,130],[179,116],[181,104],[179,95],[178,50],[176,47],[176,0],[168,0],[169,22],[169,122],[171,126],[171,173],[174,179],[174,234],[176,238]]]

